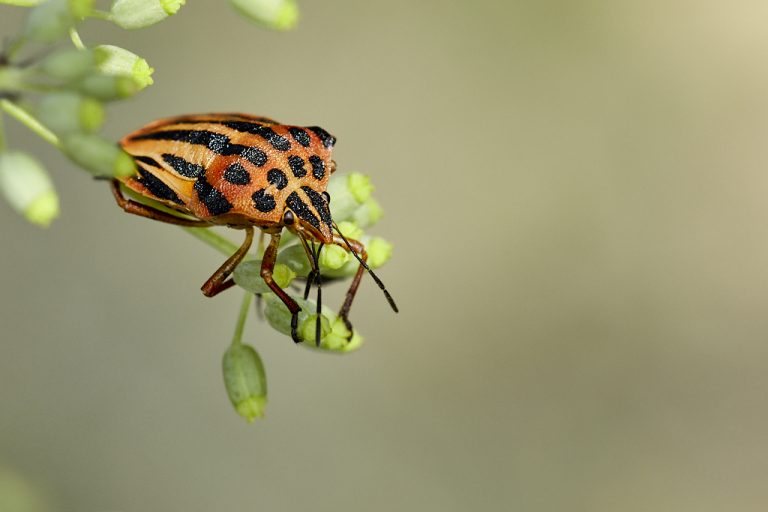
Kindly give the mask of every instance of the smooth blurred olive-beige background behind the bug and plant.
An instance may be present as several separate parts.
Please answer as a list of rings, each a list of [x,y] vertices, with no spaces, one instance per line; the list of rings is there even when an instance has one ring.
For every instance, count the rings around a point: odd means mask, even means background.
[[[0,7],[0,34],[22,9]],[[277,34],[222,1],[84,26],[179,113],[320,124],[395,243],[366,345],[252,321],[246,424],[220,358],[221,256],[54,170],[49,230],[0,204],[0,466],[46,510],[762,511],[768,507],[768,3],[302,3]],[[337,295],[338,296],[338,295]],[[5,512],[5,511],[3,511]]]

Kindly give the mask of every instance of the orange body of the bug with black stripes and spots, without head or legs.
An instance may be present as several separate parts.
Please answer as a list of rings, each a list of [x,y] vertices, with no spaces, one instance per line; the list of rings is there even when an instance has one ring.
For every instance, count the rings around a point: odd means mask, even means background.
[[[292,192],[325,190],[334,142],[320,128],[242,114],[161,120],[121,141],[138,167],[123,182],[215,224],[279,223]]]

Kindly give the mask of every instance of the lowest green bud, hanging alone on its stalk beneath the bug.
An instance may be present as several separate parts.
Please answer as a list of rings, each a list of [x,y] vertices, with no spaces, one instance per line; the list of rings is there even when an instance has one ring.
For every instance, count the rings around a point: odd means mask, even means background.
[[[264,416],[267,376],[258,352],[240,343],[230,345],[222,361],[224,387],[237,413],[252,422]]]

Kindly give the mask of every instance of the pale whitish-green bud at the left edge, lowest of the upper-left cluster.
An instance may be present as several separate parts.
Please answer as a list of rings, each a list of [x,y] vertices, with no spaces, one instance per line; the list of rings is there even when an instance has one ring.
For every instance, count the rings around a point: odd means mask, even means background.
[[[46,227],[59,215],[59,198],[48,173],[26,153],[0,153],[0,192],[33,224]]]

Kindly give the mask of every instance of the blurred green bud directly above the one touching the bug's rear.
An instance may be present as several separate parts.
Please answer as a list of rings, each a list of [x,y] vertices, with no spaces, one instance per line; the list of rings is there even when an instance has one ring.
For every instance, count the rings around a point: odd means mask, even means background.
[[[37,109],[38,119],[58,134],[92,133],[104,122],[104,108],[101,103],[74,92],[46,94]]]

